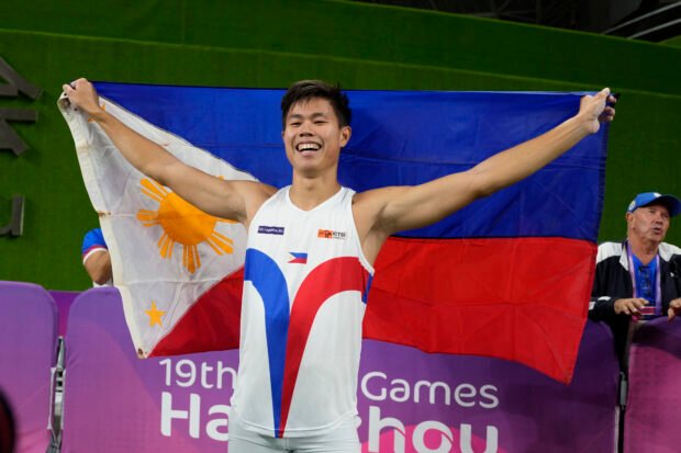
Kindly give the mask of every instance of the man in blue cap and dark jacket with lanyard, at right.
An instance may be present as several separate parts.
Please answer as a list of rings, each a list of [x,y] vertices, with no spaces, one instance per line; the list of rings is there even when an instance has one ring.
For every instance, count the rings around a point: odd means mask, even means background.
[[[623,369],[632,319],[681,314],[681,249],[663,242],[680,212],[673,195],[639,193],[626,212],[626,240],[599,246],[589,317],[612,328]]]

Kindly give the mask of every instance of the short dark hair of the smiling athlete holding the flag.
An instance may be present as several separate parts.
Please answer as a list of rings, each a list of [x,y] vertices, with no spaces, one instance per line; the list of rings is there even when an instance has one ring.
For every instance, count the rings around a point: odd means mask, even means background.
[[[353,116],[350,102],[340,90],[339,84],[333,87],[321,80],[301,80],[289,87],[289,90],[281,98],[281,125],[286,128],[286,117],[293,104],[314,98],[322,98],[331,103],[340,126],[348,126],[350,124]]]

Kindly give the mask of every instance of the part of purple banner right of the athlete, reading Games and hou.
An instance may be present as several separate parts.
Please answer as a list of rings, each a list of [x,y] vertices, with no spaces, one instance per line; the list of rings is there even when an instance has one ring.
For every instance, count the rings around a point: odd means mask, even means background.
[[[365,341],[362,451],[613,452],[617,371],[612,335],[592,322],[569,386],[513,362]]]

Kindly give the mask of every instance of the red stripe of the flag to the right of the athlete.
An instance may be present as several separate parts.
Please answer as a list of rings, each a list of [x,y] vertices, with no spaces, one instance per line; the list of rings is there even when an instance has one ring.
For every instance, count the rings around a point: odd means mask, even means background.
[[[391,238],[375,265],[365,337],[514,360],[569,383],[595,252],[562,238]]]

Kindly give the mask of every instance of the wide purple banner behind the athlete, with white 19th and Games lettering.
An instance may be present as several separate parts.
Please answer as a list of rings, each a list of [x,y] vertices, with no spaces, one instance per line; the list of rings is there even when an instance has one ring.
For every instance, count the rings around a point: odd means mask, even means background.
[[[224,452],[236,351],[139,360],[118,292],[71,306],[64,452]],[[365,341],[364,452],[613,452],[617,363],[588,324],[573,382],[523,365]]]

